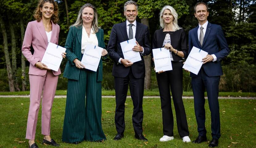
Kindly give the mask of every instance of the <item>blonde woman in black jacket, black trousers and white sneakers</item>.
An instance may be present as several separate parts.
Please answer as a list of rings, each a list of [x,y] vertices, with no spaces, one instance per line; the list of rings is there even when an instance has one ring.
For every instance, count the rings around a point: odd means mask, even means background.
[[[183,142],[190,142],[188,123],[182,101],[182,61],[188,56],[187,38],[184,29],[178,26],[178,14],[171,6],[164,6],[160,12],[160,26],[156,30],[152,49],[165,47],[170,50],[172,69],[156,73],[163,114],[163,134],[159,141],[169,141],[173,138],[173,114],[171,109],[171,94],[175,107],[177,127]],[[151,54],[152,59],[153,53]]]

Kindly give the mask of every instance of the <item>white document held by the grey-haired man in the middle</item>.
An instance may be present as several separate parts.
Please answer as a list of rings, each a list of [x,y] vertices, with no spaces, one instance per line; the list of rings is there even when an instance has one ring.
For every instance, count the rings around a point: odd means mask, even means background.
[[[140,53],[132,50],[137,45],[135,38],[121,42],[120,45],[125,59],[133,63],[141,61]]]

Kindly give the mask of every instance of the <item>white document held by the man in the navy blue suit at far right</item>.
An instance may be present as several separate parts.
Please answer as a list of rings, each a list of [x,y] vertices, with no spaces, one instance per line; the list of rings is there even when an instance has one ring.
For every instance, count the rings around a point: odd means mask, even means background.
[[[208,52],[193,46],[182,68],[197,75],[203,65],[202,59],[206,57],[207,54]]]

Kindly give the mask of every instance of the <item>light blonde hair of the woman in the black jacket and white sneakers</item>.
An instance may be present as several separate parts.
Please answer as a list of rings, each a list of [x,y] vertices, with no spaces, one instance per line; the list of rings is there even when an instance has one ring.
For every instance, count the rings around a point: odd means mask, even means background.
[[[171,11],[171,15],[173,16],[174,20],[172,21],[173,23],[173,27],[172,27],[172,30],[173,31],[176,31],[176,30],[180,30],[180,26],[178,25],[178,14],[177,12],[175,11],[175,9],[172,7],[172,6],[164,6],[162,8],[162,10],[160,11],[160,17],[159,17],[159,22],[160,22],[160,26],[161,28],[164,28],[164,22],[163,22],[163,11],[164,10],[170,10]]]

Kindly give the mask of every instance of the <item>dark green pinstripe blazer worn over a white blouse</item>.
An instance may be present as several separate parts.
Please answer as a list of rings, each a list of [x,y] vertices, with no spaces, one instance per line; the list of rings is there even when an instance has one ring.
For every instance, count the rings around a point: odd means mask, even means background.
[[[98,46],[105,49],[104,37],[103,37],[103,29],[99,29],[96,33],[96,37],[98,39]],[[66,48],[66,58],[68,62],[66,64],[63,76],[68,79],[79,79],[79,68],[76,68],[74,59],[78,59],[81,61],[81,40],[82,40],[82,26],[78,28],[75,26],[70,27],[68,31],[68,37],[66,40],[65,48]],[[107,56],[105,56],[106,58]],[[102,58],[100,60],[98,69],[97,69],[97,82],[102,81]]]

